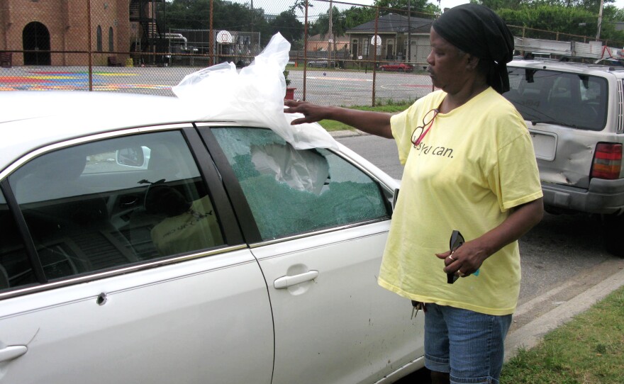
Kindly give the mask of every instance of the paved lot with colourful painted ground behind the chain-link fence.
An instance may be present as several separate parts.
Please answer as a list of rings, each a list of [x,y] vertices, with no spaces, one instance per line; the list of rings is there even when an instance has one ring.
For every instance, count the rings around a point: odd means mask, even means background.
[[[132,92],[173,96],[171,87],[191,67],[12,67],[0,68],[0,91],[94,91]],[[425,74],[372,72],[362,65],[360,70],[325,70],[289,68],[289,86],[296,88],[295,98],[338,106],[369,106],[373,91],[377,103],[413,101],[431,91]],[[305,73],[306,83],[303,84]]]

